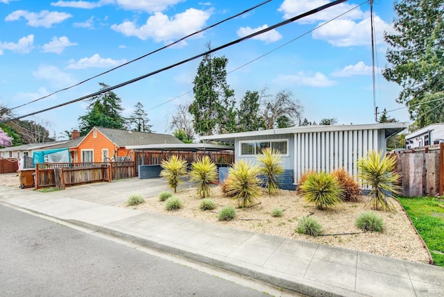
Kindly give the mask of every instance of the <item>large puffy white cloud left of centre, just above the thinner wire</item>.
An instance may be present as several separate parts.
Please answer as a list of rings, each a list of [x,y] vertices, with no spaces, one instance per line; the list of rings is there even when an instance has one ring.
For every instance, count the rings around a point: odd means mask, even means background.
[[[151,37],[155,42],[167,42],[200,30],[209,17],[208,10],[189,8],[172,18],[162,12],[155,12],[154,15],[148,17],[146,24],[140,27],[137,27],[135,22],[123,22],[119,25],[114,24],[111,28],[123,35],[136,36],[141,40]]]

